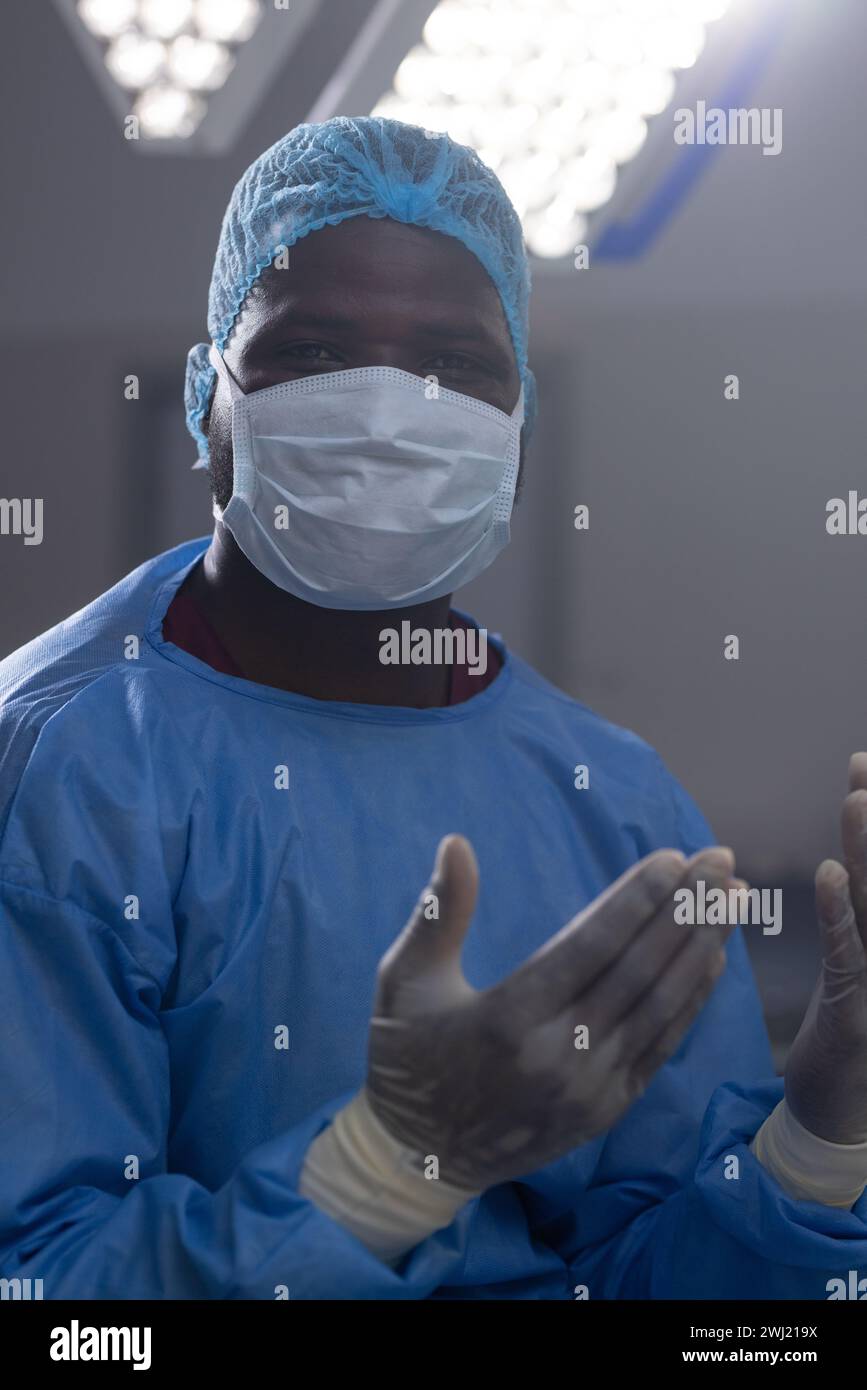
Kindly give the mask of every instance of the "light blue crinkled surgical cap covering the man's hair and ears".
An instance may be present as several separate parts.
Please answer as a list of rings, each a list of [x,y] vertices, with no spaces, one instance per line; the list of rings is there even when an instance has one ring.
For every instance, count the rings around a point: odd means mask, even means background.
[[[535,418],[535,378],[527,366],[529,265],[518,214],[475,150],[447,135],[383,117],[338,115],[299,125],[260,154],[232,193],[222,220],[208,332],[222,350],[247,291],[283,247],[347,217],[392,217],[456,236],[496,285],[521,381],[525,434]],[[214,389],[208,345],[186,361],[186,425],[207,463],[201,428]]]

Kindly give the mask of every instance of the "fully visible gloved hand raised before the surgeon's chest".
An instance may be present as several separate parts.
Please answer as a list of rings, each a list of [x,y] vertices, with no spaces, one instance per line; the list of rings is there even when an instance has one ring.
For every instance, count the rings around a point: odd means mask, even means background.
[[[685,927],[672,894],[703,878],[728,887],[734,856],[689,863],[660,851],[617,880],[514,974],[488,990],[460,951],[478,870],[449,835],[425,895],[382,958],[371,1019],[367,1098],[443,1182],[482,1191],[609,1130],[672,1055],[725,967],[731,927]],[[521,910],[515,903],[515,910]],[[531,908],[532,910],[532,908]],[[575,1030],[589,1029],[579,1049]]]

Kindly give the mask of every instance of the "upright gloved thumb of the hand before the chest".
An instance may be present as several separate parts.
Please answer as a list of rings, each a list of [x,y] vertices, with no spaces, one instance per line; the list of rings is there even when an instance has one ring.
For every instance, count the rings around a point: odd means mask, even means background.
[[[472,845],[463,835],[440,840],[431,881],[413,916],[382,958],[381,973],[440,976],[463,980],[460,954],[478,897],[478,865]],[[432,979],[428,979],[432,984]]]

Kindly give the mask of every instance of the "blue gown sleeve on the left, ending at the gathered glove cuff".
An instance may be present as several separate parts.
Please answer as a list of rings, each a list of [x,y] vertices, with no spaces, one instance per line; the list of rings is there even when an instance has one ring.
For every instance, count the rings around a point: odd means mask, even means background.
[[[347,1097],[245,1156],[217,1191],[167,1170],[160,990],[117,931],[0,884],[0,1272],[44,1298],[421,1298],[460,1255],[404,1277],[299,1195]],[[438,1254],[442,1251],[442,1254]]]

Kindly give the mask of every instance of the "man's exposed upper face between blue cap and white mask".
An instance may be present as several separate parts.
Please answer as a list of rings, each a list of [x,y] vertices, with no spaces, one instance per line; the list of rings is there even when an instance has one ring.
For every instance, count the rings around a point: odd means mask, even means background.
[[[511,414],[521,379],[500,296],[461,242],[353,217],[302,238],[288,261],[261,274],[224,352],[246,395],[320,373],[399,367]],[[211,486],[226,506],[232,425],[222,382],[207,434]]]

